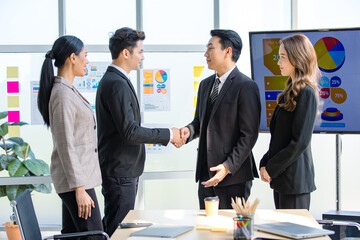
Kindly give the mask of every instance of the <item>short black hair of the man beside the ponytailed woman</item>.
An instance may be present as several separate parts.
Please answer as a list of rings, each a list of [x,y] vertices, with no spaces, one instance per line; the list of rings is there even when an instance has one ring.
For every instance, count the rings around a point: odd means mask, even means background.
[[[144,40],[145,33],[128,27],[123,27],[111,36],[109,40],[109,49],[112,59],[117,59],[122,50],[127,49],[132,53],[137,41]]]

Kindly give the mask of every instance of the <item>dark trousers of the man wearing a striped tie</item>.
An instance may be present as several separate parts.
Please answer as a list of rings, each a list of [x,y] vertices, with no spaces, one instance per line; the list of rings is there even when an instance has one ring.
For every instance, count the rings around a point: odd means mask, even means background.
[[[204,199],[206,197],[219,197],[219,208],[220,209],[232,209],[231,198],[240,197],[247,200],[250,196],[252,181],[247,181],[240,184],[234,184],[224,187],[204,187],[199,181],[199,205],[200,209],[205,209]]]

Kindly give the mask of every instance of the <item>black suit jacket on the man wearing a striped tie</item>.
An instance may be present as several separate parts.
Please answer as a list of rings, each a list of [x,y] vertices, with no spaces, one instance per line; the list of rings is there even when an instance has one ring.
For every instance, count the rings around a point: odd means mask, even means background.
[[[189,141],[197,137],[202,139],[201,135],[207,134],[207,152],[198,152],[196,181],[201,172],[199,156],[206,154],[208,168],[223,163],[231,172],[219,183],[219,186],[227,186],[258,177],[251,150],[258,137],[261,105],[256,83],[235,67],[214,102],[207,132],[202,132],[215,77],[212,75],[200,83],[195,118],[187,127],[190,129]],[[210,178],[215,173],[209,171]]]

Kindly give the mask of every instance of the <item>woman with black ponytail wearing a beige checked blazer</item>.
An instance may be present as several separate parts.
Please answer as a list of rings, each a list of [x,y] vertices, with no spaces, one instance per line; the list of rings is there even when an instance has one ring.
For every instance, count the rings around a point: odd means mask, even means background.
[[[96,122],[91,105],[72,85],[75,76],[86,73],[87,52],[77,37],[63,36],[45,57],[38,108],[53,138],[50,171],[62,200],[61,232],[102,231],[94,191],[101,184]]]

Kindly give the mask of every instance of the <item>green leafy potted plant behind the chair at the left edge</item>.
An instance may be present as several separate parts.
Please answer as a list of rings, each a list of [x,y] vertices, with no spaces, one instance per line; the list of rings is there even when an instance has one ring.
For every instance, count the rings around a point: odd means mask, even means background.
[[[20,137],[6,138],[9,126],[23,126],[27,123],[4,122],[4,118],[8,115],[7,112],[0,112],[0,171],[7,171],[10,177],[31,177],[31,176],[45,176],[50,174],[49,165],[39,159],[35,158],[30,145]],[[26,189],[33,189],[41,193],[50,193],[51,184],[26,184],[26,185],[7,185],[0,186],[0,197],[7,197],[10,201],[14,200]],[[5,229],[13,230],[13,224],[6,223]],[[15,227],[16,228],[16,227]],[[16,230],[15,230],[16,231]],[[20,236],[17,228],[17,235]],[[8,235],[10,239],[10,236]],[[21,239],[21,238],[20,238]]]

